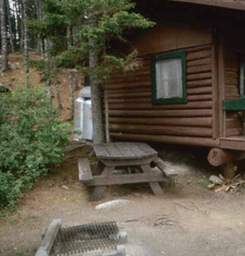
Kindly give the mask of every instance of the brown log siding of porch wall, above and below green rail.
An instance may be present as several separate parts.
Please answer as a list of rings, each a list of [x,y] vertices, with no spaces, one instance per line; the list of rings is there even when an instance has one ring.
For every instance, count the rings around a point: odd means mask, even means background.
[[[245,53],[244,46],[224,45],[224,99],[239,99],[239,55]],[[226,137],[242,134],[237,111],[226,111]]]

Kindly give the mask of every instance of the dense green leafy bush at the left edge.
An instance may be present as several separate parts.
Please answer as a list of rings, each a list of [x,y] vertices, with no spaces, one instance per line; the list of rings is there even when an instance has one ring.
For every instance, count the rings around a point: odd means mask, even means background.
[[[69,124],[54,112],[44,88],[0,95],[0,208],[14,206],[22,189],[62,162]]]

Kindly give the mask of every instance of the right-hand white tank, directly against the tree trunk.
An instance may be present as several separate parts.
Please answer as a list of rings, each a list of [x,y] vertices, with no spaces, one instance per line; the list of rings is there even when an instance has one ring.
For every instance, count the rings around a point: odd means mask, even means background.
[[[87,99],[83,104],[83,138],[93,139],[92,103]]]

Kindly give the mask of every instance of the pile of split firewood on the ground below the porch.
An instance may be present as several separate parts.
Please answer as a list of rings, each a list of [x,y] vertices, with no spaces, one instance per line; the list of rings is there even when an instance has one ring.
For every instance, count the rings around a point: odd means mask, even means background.
[[[221,175],[211,176],[209,180],[208,187],[214,189],[215,192],[245,192],[245,174],[239,174],[232,180],[225,179]]]

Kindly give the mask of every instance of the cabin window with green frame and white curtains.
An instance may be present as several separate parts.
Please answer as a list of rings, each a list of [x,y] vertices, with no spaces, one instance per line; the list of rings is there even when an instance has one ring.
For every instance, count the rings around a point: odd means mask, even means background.
[[[186,102],[185,51],[161,54],[151,59],[152,102]]]

